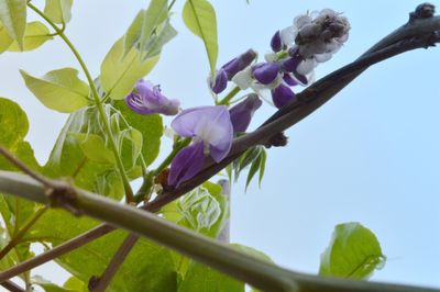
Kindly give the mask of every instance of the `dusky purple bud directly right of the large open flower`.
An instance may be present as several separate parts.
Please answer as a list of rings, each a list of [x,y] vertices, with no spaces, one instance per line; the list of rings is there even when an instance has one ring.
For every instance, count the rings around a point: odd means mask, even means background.
[[[258,96],[251,93],[244,101],[229,110],[234,133],[248,130],[254,112],[262,103]]]

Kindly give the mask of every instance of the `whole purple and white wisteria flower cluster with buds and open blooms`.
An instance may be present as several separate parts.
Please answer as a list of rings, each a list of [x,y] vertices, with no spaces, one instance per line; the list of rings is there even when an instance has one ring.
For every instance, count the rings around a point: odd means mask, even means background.
[[[277,31],[271,40],[272,53],[255,64],[257,53],[249,49],[224,64],[209,86],[216,94],[234,82],[241,90],[253,89],[242,102],[228,110],[226,105],[199,106],[182,111],[172,122],[189,146],[175,156],[167,183],[179,187],[204,168],[206,158],[220,162],[229,154],[234,133],[245,132],[254,112],[262,105],[258,96],[268,89],[276,108],[295,99],[293,87],[310,82],[315,67],[329,60],[348,40],[350,24],[345,16],[330,9],[295,18],[293,25]],[[175,115],[179,102],[164,97],[158,86],[140,80],[125,98],[128,106],[140,114]]]

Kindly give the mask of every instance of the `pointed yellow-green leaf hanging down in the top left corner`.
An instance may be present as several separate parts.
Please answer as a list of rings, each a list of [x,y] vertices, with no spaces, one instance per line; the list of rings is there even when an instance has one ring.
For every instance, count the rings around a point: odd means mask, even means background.
[[[23,49],[23,37],[26,29],[26,0],[0,0],[0,21],[9,36]]]

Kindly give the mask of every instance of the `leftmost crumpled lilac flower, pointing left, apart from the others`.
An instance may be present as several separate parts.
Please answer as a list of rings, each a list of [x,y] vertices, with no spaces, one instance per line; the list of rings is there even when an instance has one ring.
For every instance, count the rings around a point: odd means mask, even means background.
[[[169,100],[162,94],[160,86],[154,86],[144,79],[139,80],[134,90],[125,97],[125,103],[139,114],[165,115],[177,114],[180,105],[178,100]]]

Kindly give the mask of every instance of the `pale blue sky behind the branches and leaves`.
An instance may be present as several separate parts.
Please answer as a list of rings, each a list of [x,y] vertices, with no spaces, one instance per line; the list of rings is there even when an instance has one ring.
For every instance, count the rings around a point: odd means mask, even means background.
[[[43,7],[42,0],[33,2]],[[184,108],[211,104],[205,48],[183,24],[183,3],[177,0],[172,19],[179,34],[165,47],[148,79],[161,83],[169,98],[180,99]],[[418,3],[212,0],[218,65],[248,48],[263,56],[274,32],[290,25],[295,15],[331,8],[349,18],[352,30],[345,46],[317,68],[320,78],[404,24]],[[114,41],[146,7],[147,1],[138,0],[74,3],[66,34],[94,76]],[[439,61],[439,49],[431,48],[375,65],[287,131],[288,146],[268,150],[262,188],[252,183],[245,193],[243,181],[233,186],[231,240],[266,252],[280,266],[316,273],[334,225],[361,222],[376,234],[388,257],[372,280],[440,288]],[[45,109],[24,87],[18,68],[42,76],[63,67],[79,69],[58,40],[36,52],[0,56],[0,96],[28,113],[28,141],[42,164],[67,115]],[[264,104],[253,126],[274,111]],[[38,272],[57,282],[66,278],[54,265]]]

